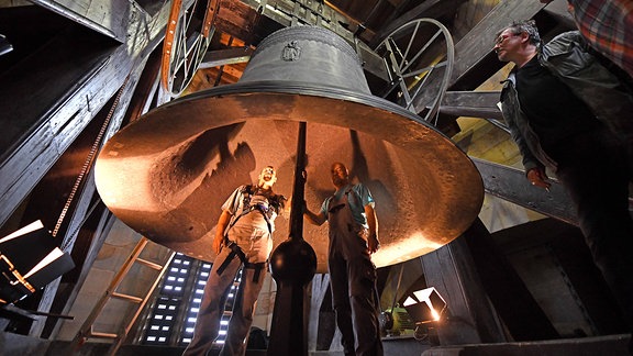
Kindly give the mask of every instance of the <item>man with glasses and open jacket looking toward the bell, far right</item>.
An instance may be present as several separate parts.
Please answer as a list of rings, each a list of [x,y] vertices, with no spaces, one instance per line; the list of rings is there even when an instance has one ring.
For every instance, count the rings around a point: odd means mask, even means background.
[[[528,180],[548,189],[547,168],[565,187],[593,262],[633,327],[633,97],[586,51],[577,31],[542,45],[534,21],[518,22],[497,34],[493,49],[515,65],[501,111]]]

